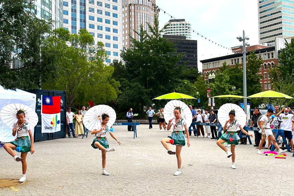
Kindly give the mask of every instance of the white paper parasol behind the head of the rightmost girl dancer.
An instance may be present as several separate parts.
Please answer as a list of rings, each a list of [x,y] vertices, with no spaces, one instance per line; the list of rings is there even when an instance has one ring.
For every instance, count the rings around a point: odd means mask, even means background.
[[[226,120],[230,119],[229,112],[231,110],[235,110],[235,119],[237,119],[242,127],[246,125],[246,114],[243,111],[243,108],[236,104],[224,104],[220,107],[217,112],[217,118],[220,121],[220,124],[224,126],[226,124]]]

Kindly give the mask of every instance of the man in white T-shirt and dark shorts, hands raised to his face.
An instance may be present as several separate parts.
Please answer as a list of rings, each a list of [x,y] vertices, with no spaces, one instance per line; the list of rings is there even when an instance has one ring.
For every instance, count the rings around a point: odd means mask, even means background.
[[[284,114],[282,114],[284,111]],[[290,112],[290,113],[289,113]],[[287,138],[290,142],[291,146],[291,153],[294,153],[293,149],[293,140],[292,140],[292,131],[293,131],[293,124],[292,119],[294,117],[294,112],[290,109],[290,107],[283,108],[277,116],[281,119],[280,129],[284,130],[285,138]],[[285,145],[282,143],[282,146]]]

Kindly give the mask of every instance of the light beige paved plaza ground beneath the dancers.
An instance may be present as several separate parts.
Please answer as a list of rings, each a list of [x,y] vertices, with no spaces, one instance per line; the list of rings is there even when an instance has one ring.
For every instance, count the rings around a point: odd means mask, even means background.
[[[91,147],[94,136],[35,143],[28,155],[27,181],[0,188],[0,195],[292,195],[293,161],[257,154],[253,145],[236,147],[236,167],[209,138],[192,136],[182,149],[183,175],[173,176],[176,157],[160,143],[169,135],[158,125],[138,126],[138,138],[126,126],[115,126],[121,146],[108,136],[115,152],[107,153],[107,171],[101,175],[101,152]],[[253,140],[254,141],[254,140]],[[173,146],[173,149],[175,147]],[[21,164],[0,148],[0,179],[19,178]]]

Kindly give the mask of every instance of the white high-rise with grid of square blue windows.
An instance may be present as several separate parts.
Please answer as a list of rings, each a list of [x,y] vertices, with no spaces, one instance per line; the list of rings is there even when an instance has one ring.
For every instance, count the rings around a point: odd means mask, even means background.
[[[93,44],[102,42],[108,55],[106,63],[120,59],[122,49],[121,0],[64,0],[63,28],[73,34],[87,29]]]

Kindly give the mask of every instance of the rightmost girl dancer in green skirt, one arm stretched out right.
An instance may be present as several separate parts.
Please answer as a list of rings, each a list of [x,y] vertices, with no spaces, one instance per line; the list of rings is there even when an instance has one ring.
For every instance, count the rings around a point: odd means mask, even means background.
[[[232,169],[236,169],[235,166],[235,158],[236,158],[236,154],[235,154],[235,147],[236,145],[239,144],[239,136],[237,134],[237,130],[241,130],[244,134],[249,135],[251,137],[253,137],[251,134],[249,134],[248,132],[246,132],[243,127],[239,124],[239,121],[237,119],[235,119],[235,111],[231,110],[229,113],[229,120],[226,121],[226,124],[224,125],[224,134],[220,137],[219,140],[217,140],[217,145],[223,149],[226,153],[227,153],[227,157],[230,158],[232,156]],[[238,129],[239,127],[239,129]],[[224,147],[224,145],[222,145],[222,143],[224,142],[228,142],[229,144],[231,144],[231,152],[228,151],[226,149],[226,147]]]

